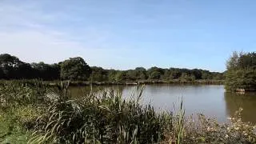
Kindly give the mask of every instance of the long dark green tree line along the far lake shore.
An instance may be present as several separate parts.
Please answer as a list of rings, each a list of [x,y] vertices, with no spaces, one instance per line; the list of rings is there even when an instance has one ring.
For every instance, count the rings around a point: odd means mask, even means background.
[[[137,67],[134,70],[106,70],[89,66],[83,58],[69,58],[63,62],[46,64],[44,62],[27,63],[10,54],[0,54],[0,79],[42,79],[81,80],[94,82],[124,82],[143,80],[194,81],[200,79],[222,80],[223,73],[200,69],[162,69]]]

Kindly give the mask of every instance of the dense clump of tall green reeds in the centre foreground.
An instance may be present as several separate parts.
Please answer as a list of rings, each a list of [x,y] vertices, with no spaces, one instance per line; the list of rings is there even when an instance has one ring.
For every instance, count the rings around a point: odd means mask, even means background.
[[[171,128],[170,114],[157,114],[137,98],[125,100],[113,90],[52,103],[38,118],[31,143],[156,143]]]

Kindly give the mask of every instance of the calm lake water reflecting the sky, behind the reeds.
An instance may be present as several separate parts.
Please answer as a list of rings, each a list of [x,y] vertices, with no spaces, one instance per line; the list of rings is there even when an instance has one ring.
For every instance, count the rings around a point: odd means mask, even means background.
[[[73,87],[72,94],[81,95],[88,87]],[[136,93],[136,86],[96,86],[94,89],[121,90],[124,98]],[[186,116],[205,114],[226,122],[239,107],[243,108],[242,121],[256,123],[256,93],[226,93],[224,86],[183,86],[183,85],[146,85],[142,93],[142,104],[152,104],[158,111],[174,111],[183,99]]]

